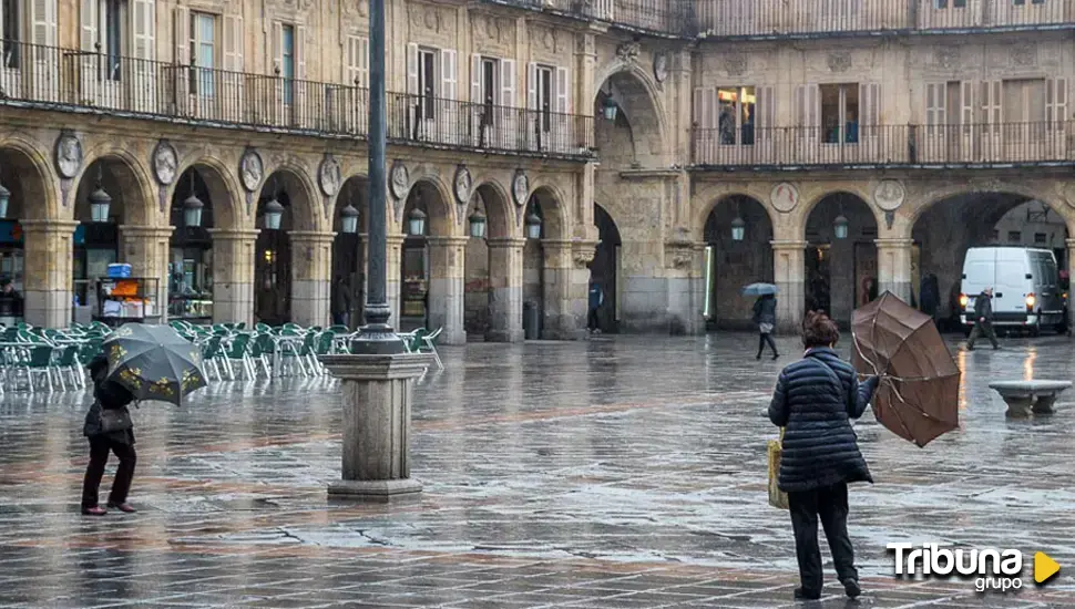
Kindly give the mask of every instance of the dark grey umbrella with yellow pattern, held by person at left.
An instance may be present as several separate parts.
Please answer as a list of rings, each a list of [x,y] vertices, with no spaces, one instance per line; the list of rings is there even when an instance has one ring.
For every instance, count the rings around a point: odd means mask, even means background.
[[[109,379],[125,386],[136,400],[160,400],[180,405],[183,396],[205,386],[197,345],[168,326],[127,323],[104,341]]]

